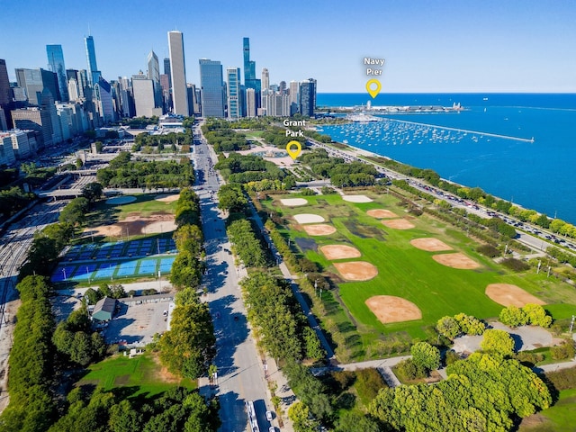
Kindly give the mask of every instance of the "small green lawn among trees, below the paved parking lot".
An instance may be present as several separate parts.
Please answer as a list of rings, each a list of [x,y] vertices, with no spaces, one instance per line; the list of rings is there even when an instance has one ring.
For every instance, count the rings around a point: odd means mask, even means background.
[[[132,387],[132,396],[154,396],[166,392],[176,385],[189,389],[196,387],[189,379],[176,378],[173,375],[161,374],[161,366],[151,354],[129,358],[128,356],[112,356],[102,362],[88,367],[87,374],[76,383],[76,386],[92,384],[102,387],[105,391],[119,387]]]

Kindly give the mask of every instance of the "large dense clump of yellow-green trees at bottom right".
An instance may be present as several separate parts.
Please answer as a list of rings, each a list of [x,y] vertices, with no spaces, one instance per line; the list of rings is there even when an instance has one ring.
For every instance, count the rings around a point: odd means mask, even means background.
[[[370,415],[392,430],[504,432],[516,416],[527,417],[552,402],[545,383],[517,360],[474,353],[446,372],[448,378],[433,386],[381,390]]]

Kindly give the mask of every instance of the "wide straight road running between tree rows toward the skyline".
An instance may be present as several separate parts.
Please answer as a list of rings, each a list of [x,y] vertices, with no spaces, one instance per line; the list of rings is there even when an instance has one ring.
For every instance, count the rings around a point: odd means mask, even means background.
[[[194,189],[200,197],[208,265],[202,284],[208,287],[209,293],[202,300],[207,300],[210,305],[217,348],[214,363],[218,367],[215,388],[204,380],[201,392],[219,396],[220,431],[247,430],[244,404],[245,401],[254,401],[260,431],[264,432],[269,428],[265,413],[272,409],[272,404],[268,401],[264,367],[248,328],[246,309],[238,286],[238,280],[246,275],[246,270],[241,267],[237,269],[234,258],[228,252],[230,244],[223,215],[218,209],[220,177],[212,170],[217,158],[201,138],[198,125],[194,126],[194,141],[193,162],[198,174]]]

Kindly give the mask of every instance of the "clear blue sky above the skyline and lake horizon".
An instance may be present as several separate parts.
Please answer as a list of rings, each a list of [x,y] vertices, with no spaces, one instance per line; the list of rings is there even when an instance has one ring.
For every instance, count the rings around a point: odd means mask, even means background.
[[[177,29],[194,84],[199,58],[242,67],[247,36],[258,75],[313,77],[320,93],[365,92],[365,56],[386,59],[383,92],[576,93],[572,0],[0,0],[0,15],[11,79],[47,67],[51,43],[67,68],[85,68],[88,31],[106,79],[146,72],[148,51],[162,62]]]

